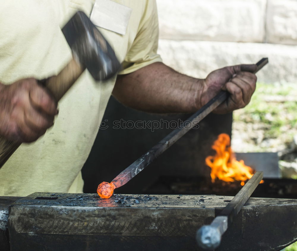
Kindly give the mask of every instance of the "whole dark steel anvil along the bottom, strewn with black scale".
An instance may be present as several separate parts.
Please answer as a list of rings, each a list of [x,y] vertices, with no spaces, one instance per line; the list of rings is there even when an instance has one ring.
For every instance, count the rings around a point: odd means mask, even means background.
[[[40,192],[0,197],[0,250],[200,250],[197,229],[209,224],[232,198],[100,199],[97,194]],[[281,250],[297,239],[295,222],[297,200],[250,198],[217,250]]]

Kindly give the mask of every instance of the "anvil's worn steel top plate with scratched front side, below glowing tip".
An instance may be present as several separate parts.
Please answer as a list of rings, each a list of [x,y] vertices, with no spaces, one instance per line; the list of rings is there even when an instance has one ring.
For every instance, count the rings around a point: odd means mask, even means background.
[[[18,233],[194,238],[197,228],[214,218],[214,205],[227,204],[221,198],[34,193],[13,203],[10,225]]]

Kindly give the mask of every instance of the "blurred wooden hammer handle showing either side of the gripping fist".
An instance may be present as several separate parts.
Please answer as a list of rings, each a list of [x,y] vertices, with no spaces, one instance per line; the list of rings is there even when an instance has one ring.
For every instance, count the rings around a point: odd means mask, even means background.
[[[50,90],[56,101],[59,101],[85,69],[85,67],[72,59],[57,76],[43,80],[42,84]],[[18,149],[20,144],[21,143],[9,141],[0,136],[0,168],[15,150]]]

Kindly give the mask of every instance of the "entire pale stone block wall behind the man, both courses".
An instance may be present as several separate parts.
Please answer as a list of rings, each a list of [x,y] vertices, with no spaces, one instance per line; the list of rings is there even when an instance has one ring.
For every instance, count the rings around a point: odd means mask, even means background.
[[[263,83],[296,83],[296,0],[157,0],[159,54],[175,70],[205,78],[220,67],[269,58]]]

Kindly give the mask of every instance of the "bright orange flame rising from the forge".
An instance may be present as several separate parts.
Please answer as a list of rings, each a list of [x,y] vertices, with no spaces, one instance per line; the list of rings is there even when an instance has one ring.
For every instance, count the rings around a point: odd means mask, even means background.
[[[208,156],[205,159],[206,165],[211,168],[211,181],[216,178],[227,181],[241,181],[241,186],[244,186],[244,181],[252,178],[255,171],[244,165],[244,161],[237,161],[235,154],[230,146],[230,137],[228,134],[222,133],[214,142],[212,149],[216,151],[214,156]],[[263,181],[261,181],[263,183]]]

